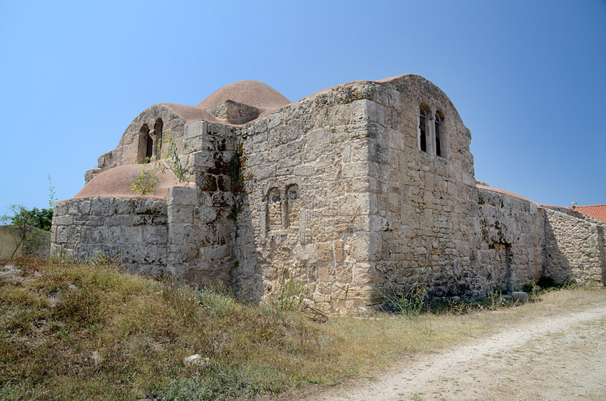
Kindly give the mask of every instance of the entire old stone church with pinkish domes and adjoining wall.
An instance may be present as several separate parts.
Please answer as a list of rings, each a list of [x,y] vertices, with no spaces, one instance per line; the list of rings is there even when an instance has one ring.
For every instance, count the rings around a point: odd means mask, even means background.
[[[174,142],[167,142],[166,138]],[[345,313],[379,288],[428,284],[437,299],[556,281],[605,282],[605,222],[477,182],[471,132],[418,75],[356,81],[291,103],[264,83],[197,106],[153,105],[73,199],[56,204],[51,253],[120,256],[128,270],[258,301],[286,276]],[[158,172],[174,143],[187,182]]]

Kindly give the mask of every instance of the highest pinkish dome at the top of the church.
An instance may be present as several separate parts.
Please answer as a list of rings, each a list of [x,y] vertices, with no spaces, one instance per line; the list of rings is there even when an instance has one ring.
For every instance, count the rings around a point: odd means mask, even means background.
[[[202,100],[196,107],[210,110],[216,108],[225,102],[225,100],[233,100],[237,103],[257,108],[259,109],[260,117],[291,103],[282,93],[279,93],[266,83],[247,79],[230,83],[215,90],[214,93],[205,98],[205,100]]]

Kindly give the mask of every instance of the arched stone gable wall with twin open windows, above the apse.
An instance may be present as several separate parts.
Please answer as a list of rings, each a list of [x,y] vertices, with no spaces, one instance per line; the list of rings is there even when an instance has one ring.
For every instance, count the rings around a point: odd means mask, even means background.
[[[120,142],[115,150],[107,152],[98,159],[98,168],[100,170],[106,170],[111,167],[120,165],[134,165],[143,162],[145,159],[145,141],[146,137],[142,134],[141,128],[143,125],[147,125],[150,133],[154,137],[154,147],[158,146],[160,140],[159,134],[154,133],[155,123],[161,119],[163,122],[162,135],[166,138],[171,132],[175,143],[179,149],[183,149],[183,135],[185,133],[185,121],[183,118],[171,110],[167,105],[153,105],[150,108],[140,113],[140,115],[133,120],[130,125],[124,131]],[[156,149],[154,149],[154,154]],[[162,157],[165,154],[165,147],[161,151]],[[143,157],[142,157],[143,155]],[[93,177],[93,175],[87,176],[87,182]]]

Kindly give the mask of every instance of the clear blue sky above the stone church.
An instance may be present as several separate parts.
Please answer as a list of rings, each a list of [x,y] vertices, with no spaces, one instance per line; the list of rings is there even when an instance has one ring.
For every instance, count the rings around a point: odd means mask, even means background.
[[[242,79],[289,100],[416,73],[471,129],[476,178],[606,203],[606,1],[0,0],[0,214],[73,197],[154,103]]]

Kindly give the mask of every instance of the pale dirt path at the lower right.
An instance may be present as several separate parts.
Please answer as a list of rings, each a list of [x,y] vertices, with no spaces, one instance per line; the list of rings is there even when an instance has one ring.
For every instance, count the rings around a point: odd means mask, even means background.
[[[401,361],[309,400],[606,400],[606,306],[542,318],[480,343]]]

